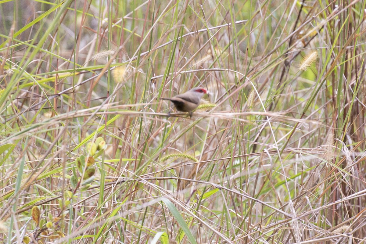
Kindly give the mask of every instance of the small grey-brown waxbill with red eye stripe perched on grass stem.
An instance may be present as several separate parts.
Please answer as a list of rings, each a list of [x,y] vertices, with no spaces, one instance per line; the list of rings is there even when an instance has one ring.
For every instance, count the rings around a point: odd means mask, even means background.
[[[174,97],[160,99],[172,101],[178,111],[188,112],[192,116],[192,111],[198,107],[202,96],[206,93],[209,91],[202,87],[196,87]]]

